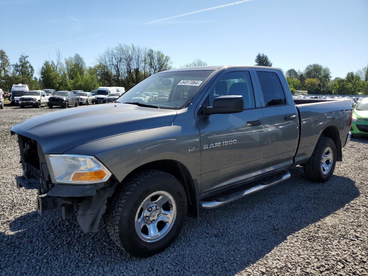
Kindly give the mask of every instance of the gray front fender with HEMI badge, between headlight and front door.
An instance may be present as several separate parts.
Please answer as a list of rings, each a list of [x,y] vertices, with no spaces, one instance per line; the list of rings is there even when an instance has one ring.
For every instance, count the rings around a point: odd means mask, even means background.
[[[189,151],[189,148],[195,150]],[[131,171],[144,164],[174,160],[187,167],[192,179],[197,179],[200,183],[199,149],[199,130],[193,120],[183,125],[173,124],[92,141],[66,153],[96,156],[118,181],[123,181]]]

